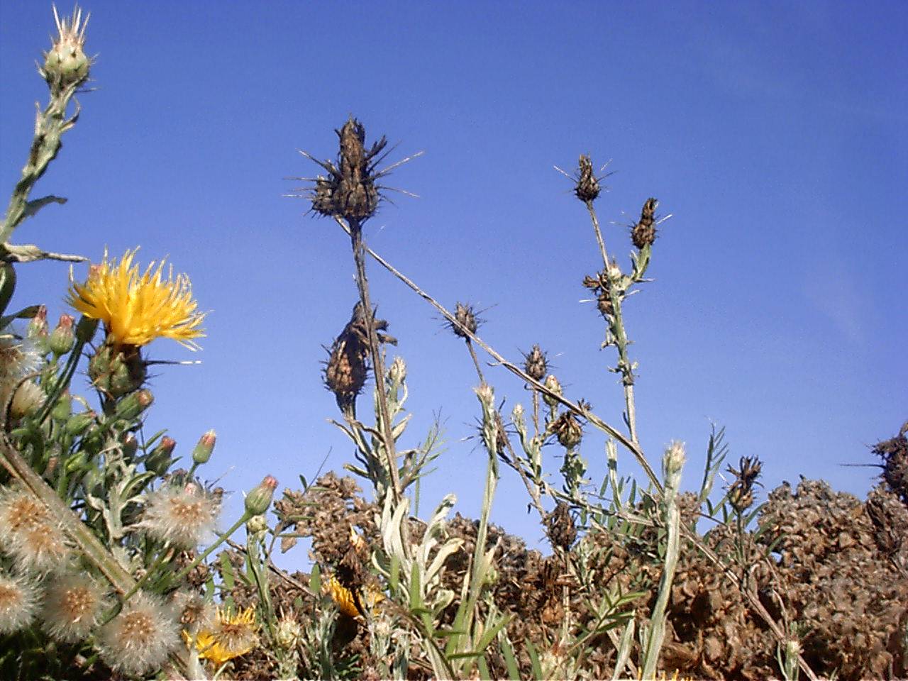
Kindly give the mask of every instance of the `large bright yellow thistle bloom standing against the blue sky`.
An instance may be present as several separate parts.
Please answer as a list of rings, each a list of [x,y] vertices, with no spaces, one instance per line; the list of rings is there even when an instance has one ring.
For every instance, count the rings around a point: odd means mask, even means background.
[[[173,279],[173,268],[163,278],[164,262],[150,264],[143,274],[133,265],[138,249],[127,251],[120,262],[93,265],[84,284],[73,282],[69,302],[86,317],[104,321],[116,345],[147,345],[156,338],[172,338],[190,350],[194,339],[204,336],[203,312],[197,312],[192,287],[185,274]]]

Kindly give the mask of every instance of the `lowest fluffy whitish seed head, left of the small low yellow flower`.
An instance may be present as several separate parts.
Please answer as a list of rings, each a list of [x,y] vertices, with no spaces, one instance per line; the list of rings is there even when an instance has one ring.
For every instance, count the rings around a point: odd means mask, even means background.
[[[140,591],[98,632],[101,658],[114,671],[144,676],[180,644],[180,627],[160,597]]]

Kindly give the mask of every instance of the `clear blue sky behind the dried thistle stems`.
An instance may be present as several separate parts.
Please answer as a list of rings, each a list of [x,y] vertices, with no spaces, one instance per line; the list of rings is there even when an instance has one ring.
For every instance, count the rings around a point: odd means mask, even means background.
[[[367,240],[450,307],[472,301],[508,357],[540,343],[568,394],[620,423],[613,350],[580,281],[597,269],[586,212],[553,164],[613,159],[597,202],[610,251],[647,196],[672,212],[656,282],[627,302],[640,361],[639,428],[656,463],[686,440],[700,479],[710,420],[733,460],[765,460],[765,485],[798,474],[863,495],[868,445],[908,418],[908,51],[903,3],[121,3],[97,0],[87,51],[97,88],[37,194],[69,197],[19,242],[100,259],[141,245],[190,274],[204,350],[156,341],[153,429],[228,489],[266,473],[292,484],[350,460],[321,386],[322,344],[356,299],[338,227],[281,198],[327,158],[348,114],[372,136],[425,155],[391,184]],[[66,12],[69,7],[61,6]],[[50,4],[0,5],[0,187],[12,189],[46,88],[35,58]],[[5,202],[6,199],[3,199]],[[599,263],[601,264],[601,263]],[[424,486],[474,516],[485,455],[476,383],[438,315],[372,266],[380,315],[410,366],[408,443],[441,412],[448,451]],[[84,269],[78,276],[84,276]],[[64,311],[66,268],[20,270],[15,302]],[[498,398],[522,385],[488,370]],[[84,378],[82,379],[84,381]],[[364,406],[360,413],[365,411]],[[600,479],[603,439],[583,454]],[[556,476],[556,448],[547,466]],[[629,457],[621,457],[633,472]],[[239,493],[234,498],[237,508]],[[505,471],[494,519],[540,537]]]

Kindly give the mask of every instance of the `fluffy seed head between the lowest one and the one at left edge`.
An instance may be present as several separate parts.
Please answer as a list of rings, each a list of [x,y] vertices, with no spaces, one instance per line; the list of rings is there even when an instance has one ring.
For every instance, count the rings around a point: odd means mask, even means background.
[[[54,579],[44,592],[41,626],[50,637],[68,643],[84,640],[97,624],[104,592],[86,575]]]

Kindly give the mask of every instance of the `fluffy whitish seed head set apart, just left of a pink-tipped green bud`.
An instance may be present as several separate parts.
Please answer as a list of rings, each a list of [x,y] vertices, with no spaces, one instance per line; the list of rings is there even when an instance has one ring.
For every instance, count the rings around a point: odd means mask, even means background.
[[[220,510],[220,504],[196,483],[170,485],[148,495],[137,527],[177,548],[195,548],[211,535]]]

